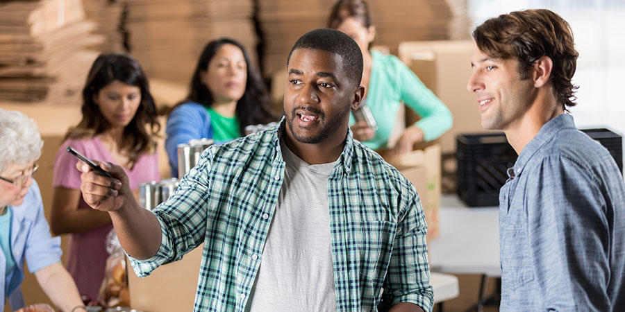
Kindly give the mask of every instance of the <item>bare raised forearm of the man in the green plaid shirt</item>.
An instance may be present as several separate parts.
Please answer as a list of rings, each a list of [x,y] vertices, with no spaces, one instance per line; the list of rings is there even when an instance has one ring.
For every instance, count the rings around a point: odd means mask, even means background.
[[[160,248],[162,233],[160,223],[149,210],[135,200],[128,200],[117,211],[110,211],[119,243],[131,257],[139,260],[153,257]]]

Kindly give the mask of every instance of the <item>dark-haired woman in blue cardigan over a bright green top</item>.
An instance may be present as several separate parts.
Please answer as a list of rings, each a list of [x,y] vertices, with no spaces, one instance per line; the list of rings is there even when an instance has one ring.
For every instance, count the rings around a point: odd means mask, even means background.
[[[165,150],[178,175],[177,146],[192,139],[223,143],[242,137],[247,125],[276,121],[260,73],[239,42],[221,38],[206,44],[191,79],[189,95],[167,117]]]

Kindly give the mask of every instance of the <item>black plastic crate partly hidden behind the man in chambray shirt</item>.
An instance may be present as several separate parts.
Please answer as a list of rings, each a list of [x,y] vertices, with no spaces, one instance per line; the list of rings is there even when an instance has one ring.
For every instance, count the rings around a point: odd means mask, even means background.
[[[623,139],[608,129],[581,130],[608,149],[623,172]],[[469,207],[498,206],[499,189],[517,153],[503,132],[460,134],[456,137],[456,193]]]

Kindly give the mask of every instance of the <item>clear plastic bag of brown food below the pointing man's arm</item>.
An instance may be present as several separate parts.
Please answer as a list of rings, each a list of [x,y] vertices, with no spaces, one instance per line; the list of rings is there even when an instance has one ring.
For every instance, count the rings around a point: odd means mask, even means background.
[[[106,259],[104,279],[100,286],[99,303],[103,307],[130,306],[128,279],[126,278],[126,254],[119,244],[115,229],[106,236]]]

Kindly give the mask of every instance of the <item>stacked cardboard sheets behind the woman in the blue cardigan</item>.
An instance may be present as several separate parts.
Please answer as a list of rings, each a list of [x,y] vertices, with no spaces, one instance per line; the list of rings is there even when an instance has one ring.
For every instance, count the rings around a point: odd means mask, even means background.
[[[231,37],[257,66],[252,0],[128,0],[128,49],[150,78],[188,84],[203,47]]]

